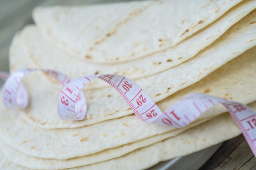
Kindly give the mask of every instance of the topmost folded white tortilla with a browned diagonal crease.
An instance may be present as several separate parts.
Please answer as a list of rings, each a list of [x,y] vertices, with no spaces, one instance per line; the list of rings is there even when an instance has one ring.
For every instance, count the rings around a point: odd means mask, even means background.
[[[127,9],[124,15],[116,14],[114,8],[109,9],[111,5],[106,8],[45,7],[37,8],[33,18],[41,31],[70,55],[90,62],[117,63],[166,50],[208,26],[239,2],[240,0],[142,1],[137,2],[137,8]],[[140,3],[146,5],[140,6]],[[117,8],[118,6],[116,4]],[[94,8],[94,11],[88,12],[87,9],[90,11],[90,8]],[[95,11],[103,12],[93,15]],[[116,18],[113,23],[110,16],[110,21],[107,18],[104,21],[106,24],[98,26],[99,18],[104,16],[105,11],[120,18]],[[88,19],[86,16],[89,16]],[[92,27],[88,23],[93,23]]]

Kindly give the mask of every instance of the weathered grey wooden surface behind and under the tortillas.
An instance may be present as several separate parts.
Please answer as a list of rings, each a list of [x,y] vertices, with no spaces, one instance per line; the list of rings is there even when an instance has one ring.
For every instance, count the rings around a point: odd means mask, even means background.
[[[102,1],[102,0],[101,0]],[[33,23],[31,12],[34,6],[53,4],[97,4],[101,1],[35,1],[0,0],[0,71],[9,71],[9,45],[14,34],[27,24]],[[111,1],[111,0],[109,0]],[[108,1],[104,1],[107,3]],[[3,81],[0,80],[0,86]],[[256,159],[242,135],[224,142],[203,169],[256,169]]]

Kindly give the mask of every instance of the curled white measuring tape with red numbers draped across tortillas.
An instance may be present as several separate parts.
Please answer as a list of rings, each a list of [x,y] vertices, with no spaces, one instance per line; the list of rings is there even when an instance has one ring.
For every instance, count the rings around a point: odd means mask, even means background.
[[[38,70],[50,74],[64,86],[57,104],[58,115],[63,120],[82,120],[85,118],[87,104],[81,89],[92,79],[97,78],[102,79],[116,89],[129,107],[132,108],[135,115],[146,123],[183,128],[209,108],[222,104],[238,124],[256,157],[256,113],[252,111],[252,108],[242,103],[207,94],[190,94],[174,103],[163,113],[140,86],[127,79],[127,77],[117,74],[100,74],[72,80],[63,73],[49,69],[21,69],[11,74],[8,79],[6,74],[0,73],[0,78],[6,79],[2,97],[7,108],[26,108],[28,94],[21,84],[21,79],[26,74]]]

